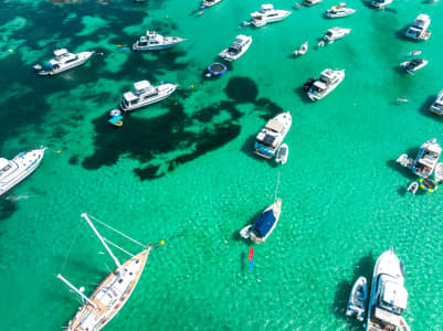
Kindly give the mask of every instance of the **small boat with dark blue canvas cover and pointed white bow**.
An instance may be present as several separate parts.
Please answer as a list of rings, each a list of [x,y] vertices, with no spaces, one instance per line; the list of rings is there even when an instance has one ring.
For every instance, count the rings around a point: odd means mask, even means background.
[[[272,234],[278,223],[279,214],[282,212],[282,199],[278,199],[272,205],[264,210],[264,212],[255,221],[250,229],[250,238],[255,244],[266,242],[267,237]]]

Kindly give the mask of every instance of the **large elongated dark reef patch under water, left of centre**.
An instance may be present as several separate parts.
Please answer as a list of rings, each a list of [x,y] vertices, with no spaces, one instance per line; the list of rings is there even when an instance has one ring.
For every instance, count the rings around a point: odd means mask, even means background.
[[[189,96],[189,92],[181,93]],[[175,97],[164,102],[161,107],[167,108],[168,113],[155,118],[136,118],[128,114],[119,130],[110,127],[104,116],[96,118],[93,121],[96,131],[95,152],[82,166],[89,170],[112,166],[125,154],[146,163],[134,169],[134,172],[140,180],[151,180],[172,171],[178,164],[220,148],[240,134],[241,127],[232,121],[242,114],[232,102],[213,104],[197,110],[194,115],[187,115],[183,104]],[[213,117],[223,110],[230,114],[229,118],[212,124]],[[189,129],[196,126],[199,128],[197,132]],[[164,157],[159,160],[159,156],[172,151],[181,154],[171,160],[165,161]],[[160,162],[165,167],[159,166]]]

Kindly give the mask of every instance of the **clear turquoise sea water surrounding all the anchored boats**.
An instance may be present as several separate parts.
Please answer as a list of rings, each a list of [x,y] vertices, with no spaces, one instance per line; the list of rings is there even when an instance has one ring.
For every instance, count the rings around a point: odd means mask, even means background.
[[[361,330],[344,318],[351,282],[370,278],[390,246],[405,265],[412,330],[442,328],[442,193],[405,194],[414,177],[394,162],[424,140],[443,139],[442,119],[426,110],[442,88],[441,3],[403,0],[376,11],[351,1],[355,15],[321,18],[337,2],[239,30],[261,1],[225,0],[201,17],[191,14],[198,1],[4,1],[1,156],[49,150],[0,202],[0,329],[60,330],[78,303],[54,275],[62,270],[89,292],[113,269],[81,223],[85,211],[139,241],[166,242],[107,330]],[[433,19],[431,39],[403,39],[421,12]],[[352,32],[316,49],[337,25]],[[147,29],[188,41],[162,53],[116,47]],[[247,53],[220,79],[203,81],[204,67],[240,33],[253,36]],[[308,53],[291,57],[305,40]],[[61,46],[105,55],[38,77],[31,66]],[[430,64],[403,75],[398,65],[416,49]],[[325,67],[345,68],[346,78],[312,104],[299,87]],[[145,78],[180,90],[114,130],[107,113]],[[252,148],[265,120],[282,110],[293,116],[291,152],[276,167]],[[250,270],[251,245],[238,231],[272,203],[278,171],[282,217],[255,247]]]

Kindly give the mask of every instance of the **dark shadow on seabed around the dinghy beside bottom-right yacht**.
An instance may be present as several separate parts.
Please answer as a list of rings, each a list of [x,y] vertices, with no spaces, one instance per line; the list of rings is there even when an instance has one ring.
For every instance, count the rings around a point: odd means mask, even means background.
[[[372,250],[371,250],[367,256],[361,257],[360,260],[355,265],[351,281],[345,279],[337,285],[337,291],[334,298],[334,303],[331,309],[337,318],[346,319],[348,321],[350,330],[361,329],[362,324],[356,319],[347,319],[346,317],[346,308],[348,306],[349,293],[352,289],[354,282],[360,276],[366,277],[368,284],[372,282],[372,270],[375,264],[376,260],[372,257]],[[370,289],[368,290],[370,291]]]

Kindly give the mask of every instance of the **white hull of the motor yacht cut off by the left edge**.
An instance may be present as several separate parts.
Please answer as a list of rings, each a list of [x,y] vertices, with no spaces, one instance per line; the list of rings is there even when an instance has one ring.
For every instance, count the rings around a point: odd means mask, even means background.
[[[18,185],[39,168],[45,149],[46,148],[31,150],[22,157],[20,157],[22,154],[20,153],[10,161],[15,166],[15,170],[0,178],[0,196]]]

